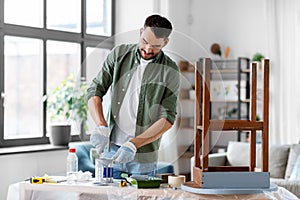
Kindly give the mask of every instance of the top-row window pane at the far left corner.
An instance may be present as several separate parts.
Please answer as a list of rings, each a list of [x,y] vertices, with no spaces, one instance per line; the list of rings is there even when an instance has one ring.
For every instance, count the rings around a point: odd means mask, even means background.
[[[4,1],[4,22],[42,28],[43,2],[41,0]]]

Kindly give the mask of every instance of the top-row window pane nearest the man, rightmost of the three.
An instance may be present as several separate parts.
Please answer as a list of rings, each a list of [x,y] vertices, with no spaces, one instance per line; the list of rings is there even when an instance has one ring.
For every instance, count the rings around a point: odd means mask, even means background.
[[[86,32],[111,36],[111,0],[86,1]]]

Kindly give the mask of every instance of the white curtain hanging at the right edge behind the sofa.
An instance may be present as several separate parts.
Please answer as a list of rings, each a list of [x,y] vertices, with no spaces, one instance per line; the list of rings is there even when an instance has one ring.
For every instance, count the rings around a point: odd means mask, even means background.
[[[300,141],[300,1],[266,0],[270,144]]]

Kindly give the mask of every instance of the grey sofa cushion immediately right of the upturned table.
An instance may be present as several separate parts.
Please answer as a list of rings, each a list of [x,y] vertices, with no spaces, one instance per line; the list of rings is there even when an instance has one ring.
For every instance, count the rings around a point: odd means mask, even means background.
[[[289,145],[272,145],[269,150],[269,171],[272,178],[284,178]]]

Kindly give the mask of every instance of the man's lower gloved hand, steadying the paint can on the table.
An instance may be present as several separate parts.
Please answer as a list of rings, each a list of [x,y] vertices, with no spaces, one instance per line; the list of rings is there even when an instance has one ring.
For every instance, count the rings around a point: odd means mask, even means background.
[[[117,163],[128,163],[134,160],[136,154],[135,145],[128,141],[125,142],[117,151],[117,153],[112,157],[112,159]]]

